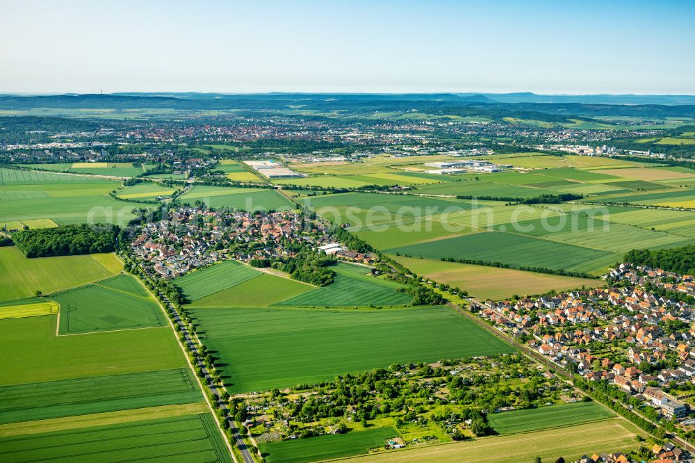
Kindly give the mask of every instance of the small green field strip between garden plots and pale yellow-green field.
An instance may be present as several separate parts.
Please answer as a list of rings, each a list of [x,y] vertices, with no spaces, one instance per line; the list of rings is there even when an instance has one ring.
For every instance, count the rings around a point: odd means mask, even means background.
[[[613,416],[613,412],[596,402],[575,402],[493,413],[488,418],[494,430],[500,434],[512,434],[598,421]]]

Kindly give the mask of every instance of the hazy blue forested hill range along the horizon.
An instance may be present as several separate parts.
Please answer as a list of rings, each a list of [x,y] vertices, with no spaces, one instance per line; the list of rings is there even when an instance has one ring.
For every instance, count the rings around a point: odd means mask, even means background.
[[[114,93],[110,95],[0,95],[0,109],[31,108],[171,108],[345,111],[420,111],[434,115],[484,115],[564,122],[569,117],[695,117],[689,95],[535,95],[534,93]],[[306,116],[306,115],[305,115]],[[309,116],[311,117],[311,116]],[[316,116],[320,117],[320,116]]]

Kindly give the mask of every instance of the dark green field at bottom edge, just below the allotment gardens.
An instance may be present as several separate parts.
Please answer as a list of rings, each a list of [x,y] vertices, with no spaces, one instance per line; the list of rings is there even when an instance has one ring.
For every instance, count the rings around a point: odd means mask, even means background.
[[[307,463],[368,453],[370,448],[383,447],[398,437],[393,428],[353,431],[347,434],[326,434],[309,439],[261,444],[261,455],[268,463]]]

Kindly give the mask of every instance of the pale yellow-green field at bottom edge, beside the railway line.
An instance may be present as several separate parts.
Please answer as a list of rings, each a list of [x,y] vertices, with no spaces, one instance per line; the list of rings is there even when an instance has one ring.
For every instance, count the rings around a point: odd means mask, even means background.
[[[550,430],[507,434],[454,442],[441,446],[423,446],[353,457],[351,463],[528,463],[536,457],[554,462],[559,455],[568,462],[587,453],[628,453],[640,447],[637,434],[644,432],[623,419],[568,426]]]

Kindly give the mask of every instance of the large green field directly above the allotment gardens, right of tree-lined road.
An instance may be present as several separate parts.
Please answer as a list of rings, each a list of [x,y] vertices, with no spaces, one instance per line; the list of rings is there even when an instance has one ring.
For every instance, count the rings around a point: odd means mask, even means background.
[[[230,393],[513,348],[448,307],[190,309]],[[143,330],[148,331],[148,330]]]

